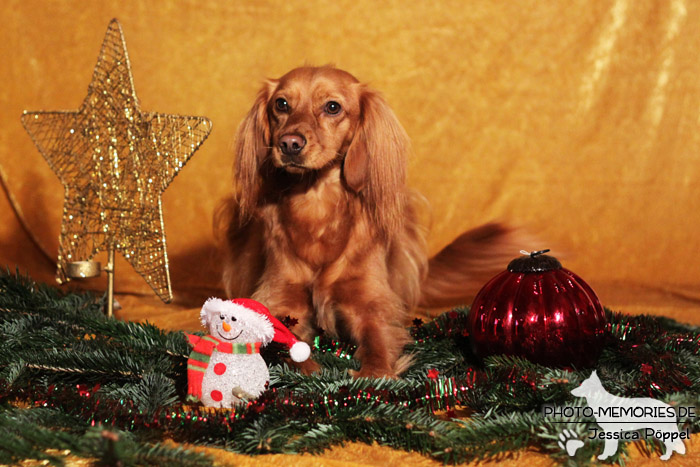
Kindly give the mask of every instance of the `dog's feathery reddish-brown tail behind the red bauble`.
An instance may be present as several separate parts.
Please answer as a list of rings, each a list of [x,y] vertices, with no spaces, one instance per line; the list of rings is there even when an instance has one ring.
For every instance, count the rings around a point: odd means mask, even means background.
[[[468,305],[479,289],[530,245],[514,229],[491,223],[469,230],[428,263],[419,306]]]

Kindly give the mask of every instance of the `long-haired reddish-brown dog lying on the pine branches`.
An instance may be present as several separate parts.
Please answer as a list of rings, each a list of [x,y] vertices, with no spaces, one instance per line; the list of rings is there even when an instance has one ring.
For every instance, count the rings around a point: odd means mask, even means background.
[[[302,67],[268,80],[241,123],[225,232],[229,296],[252,296],[310,341],[357,344],[356,376],[397,376],[417,306],[464,303],[514,250],[488,224],[434,258],[406,185],[409,140],[384,99],[351,74]],[[499,253],[497,253],[499,252]],[[318,368],[307,361],[302,370]]]

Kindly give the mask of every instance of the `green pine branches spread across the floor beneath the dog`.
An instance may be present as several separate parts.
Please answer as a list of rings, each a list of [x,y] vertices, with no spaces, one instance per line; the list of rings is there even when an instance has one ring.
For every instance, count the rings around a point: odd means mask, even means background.
[[[559,462],[590,462],[602,441],[580,419],[554,423],[544,405],[585,405],[570,391],[590,369],[560,369],[469,350],[468,310],[411,329],[414,362],[402,379],[353,379],[354,347],[317,339],[323,366],[305,376],[276,345],[263,350],[270,389],[236,410],[182,404],[189,346],[181,332],[107,319],[88,293],[61,293],[0,273],[0,463],[60,465],[68,452],[102,463],[208,465],[211,459],[159,443],[217,446],[245,454],[321,452],[347,441],[379,442],[447,463],[493,459],[526,447]],[[608,391],[700,406],[700,331],[667,318],[609,310],[597,371]],[[28,408],[20,408],[26,407]],[[469,420],[454,417],[457,407]],[[436,415],[436,411],[444,411]],[[698,419],[683,422],[699,431]],[[567,428],[584,447],[569,458],[557,445]],[[650,450],[659,449],[646,441]],[[620,442],[612,461],[622,461]]]

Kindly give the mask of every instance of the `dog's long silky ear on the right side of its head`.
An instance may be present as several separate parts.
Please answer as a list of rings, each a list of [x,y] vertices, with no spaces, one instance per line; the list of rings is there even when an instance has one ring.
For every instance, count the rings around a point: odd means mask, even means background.
[[[385,234],[402,223],[409,146],[406,131],[384,99],[362,85],[359,123],[345,156],[343,177]]]

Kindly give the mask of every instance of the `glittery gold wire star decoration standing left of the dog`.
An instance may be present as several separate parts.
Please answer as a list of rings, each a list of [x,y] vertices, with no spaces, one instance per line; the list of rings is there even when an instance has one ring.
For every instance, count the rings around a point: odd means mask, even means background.
[[[77,111],[24,112],[22,124],[64,186],[59,283],[67,265],[116,250],[172,300],[161,196],[211,131],[204,117],[142,112],[113,19]]]

